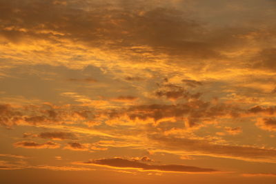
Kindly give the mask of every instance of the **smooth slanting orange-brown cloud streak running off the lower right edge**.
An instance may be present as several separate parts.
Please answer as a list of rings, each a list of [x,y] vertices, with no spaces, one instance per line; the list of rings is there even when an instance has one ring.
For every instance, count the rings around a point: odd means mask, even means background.
[[[148,137],[150,140],[158,143],[160,147],[164,147],[163,150],[167,150],[167,152],[276,163],[275,149],[250,147],[246,145],[225,145],[221,143],[212,143],[206,139],[188,139],[175,136],[165,137],[157,134],[152,134]]]

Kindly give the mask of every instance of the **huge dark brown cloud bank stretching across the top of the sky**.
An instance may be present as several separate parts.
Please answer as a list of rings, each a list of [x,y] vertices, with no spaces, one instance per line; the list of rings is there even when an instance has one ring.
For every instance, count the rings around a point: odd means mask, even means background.
[[[29,39],[29,44],[42,39],[51,44],[71,41],[106,54],[124,52],[128,62],[155,62],[161,58],[189,67],[208,65],[208,59],[226,58],[225,53],[246,43],[236,35],[250,32],[246,28],[206,26],[191,19],[189,10],[175,8],[170,1],[166,6],[157,6],[155,1],[134,1],[137,3],[131,5],[121,1],[66,1],[66,6],[54,2],[1,2],[5,7],[0,17],[5,22],[0,27],[1,37],[15,44],[28,43]]]

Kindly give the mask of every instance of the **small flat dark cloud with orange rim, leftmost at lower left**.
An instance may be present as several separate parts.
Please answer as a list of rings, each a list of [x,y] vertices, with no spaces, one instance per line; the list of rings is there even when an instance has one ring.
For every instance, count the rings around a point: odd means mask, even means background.
[[[48,141],[46,143],[35,143],[33,141],[21,141],[14,143],[14,147],[23,147],[23,148],[32,148],[32,149],[55,149],[59,148],[60,145],[58,143],[54,143],[52,141]]]

